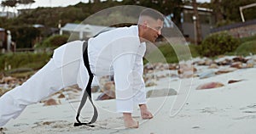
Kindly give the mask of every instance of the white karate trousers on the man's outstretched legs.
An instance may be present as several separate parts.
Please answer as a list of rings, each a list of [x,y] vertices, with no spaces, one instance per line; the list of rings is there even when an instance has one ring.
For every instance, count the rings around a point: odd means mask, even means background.
[[[54,59],[50,59],[48,64],[21,86],[6,92],[0,98],[0,126],[18,117],[27,105],[38,103],[63,87],[77,84],[80,62],[76,60],[65,66],[56,67]],[[64,73],[66,69],[72,70]],[[63,75],[68,77],[65,76],[63,79]]]

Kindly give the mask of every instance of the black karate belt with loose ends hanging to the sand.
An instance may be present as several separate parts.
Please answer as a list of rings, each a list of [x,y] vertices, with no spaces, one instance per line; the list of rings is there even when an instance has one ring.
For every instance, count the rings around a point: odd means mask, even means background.
[[[97,112],[97,109],[94,105],[94,103],[92,102],[91,100],[91,82],[93,80],[93,74],[91,73],[90,71],[90,64],[89,64],[89,59],[88,59],[88,42],[87,41],[84,41],[84,45],[83,45],[83,50],[84,50],[84,53],[83,53],[83,58],[84,58],[84,65],[88,71],[88,74],[89,74],[89,81],[88,81],[88,84],[86,86],[86,90],[84,91],[84,94],[83,94],[83,98],[80,102],[80,105],[79,105],[79,109],[78,109],[78,113],[77,113],[77,116],[76,116],[76,120],[78,121],[78,123],[74,123],[73,126],[91,126],[91,127],[94,127],[93,125],[90,125],[94,122],[96,122],[97,118],[98,118],[98,112]],[[84,81],[84,80],[83,80]],[[84,107],[84,104],[86,103],[86,100],[89,96],[89,100],[90,100],[90,103],[92,104],[93,106],[93,111],[94,111],[94,114],[93,114],[93,117],[92,119],[90,120],[90,122],[88,123],[82,123],[80,120],[79,120],[79,115],[80,115],[80,112],[81,112],[81,109]]]

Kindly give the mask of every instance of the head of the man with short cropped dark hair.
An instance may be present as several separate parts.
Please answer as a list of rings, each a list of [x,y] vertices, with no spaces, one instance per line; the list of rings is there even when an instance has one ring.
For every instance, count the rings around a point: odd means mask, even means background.
[[[156,38],[161,35],[164,16],[154,9],[146,8],[140,14],[138,25],[141,41],[155,42]]]

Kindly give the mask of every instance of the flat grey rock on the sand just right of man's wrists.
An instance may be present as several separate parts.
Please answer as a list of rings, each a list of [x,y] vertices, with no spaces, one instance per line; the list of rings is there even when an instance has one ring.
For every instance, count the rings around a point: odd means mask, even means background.
[[[177,95],[177,91],[174,89],[159,89],[159,90],[149,90],[147,92],[147,98],[157,98]]]

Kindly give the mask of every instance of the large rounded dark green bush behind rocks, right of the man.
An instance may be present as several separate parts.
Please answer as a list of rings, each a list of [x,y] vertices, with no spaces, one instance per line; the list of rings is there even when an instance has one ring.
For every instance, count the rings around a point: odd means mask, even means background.
[[[240,41],[227,32],[214,33],[207,36],[198,47],[202,56],[214,57],[236,50]]]

